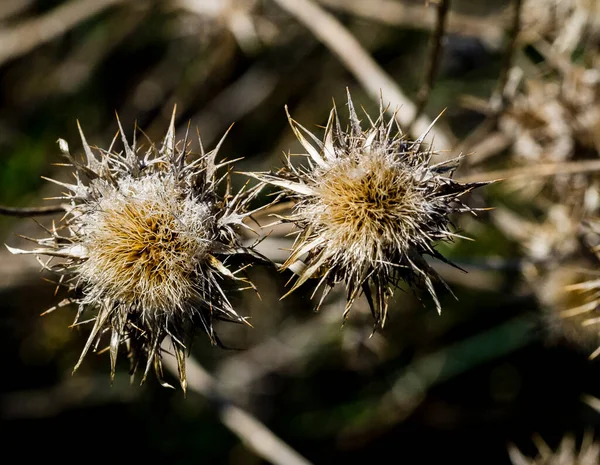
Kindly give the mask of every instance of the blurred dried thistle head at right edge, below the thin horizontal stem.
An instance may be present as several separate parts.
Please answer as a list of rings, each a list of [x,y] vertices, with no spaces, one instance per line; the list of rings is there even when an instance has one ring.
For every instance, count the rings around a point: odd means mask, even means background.
[[[540,223],[503,209],[493,218],[523,248],[523,275],[541,304],[551,339],[567,340],[591,352],[590,358],[600,355],[600,279],[595,270],[600,249],[594,244],[600,235],[563,205],[552,206]]]

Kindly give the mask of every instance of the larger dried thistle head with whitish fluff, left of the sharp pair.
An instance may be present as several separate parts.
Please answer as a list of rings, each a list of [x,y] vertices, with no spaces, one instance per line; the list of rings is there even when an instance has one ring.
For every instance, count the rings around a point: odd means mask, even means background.
[[[119,346],[125,345],[131,372],[142,368],[142,382],[153,367],[162,378],[161,342],[170,336],[185,390],[185,351],[197,326],[218,343],[213,319],[246,322],[230,304],[223,281],[243,281],[223,262],[235,254],[255,254],[241,246],[239,228],[249,202],[260,186],[232,195],[229,162],[215,163],[221,145],[193,153],[188,136],[175,141],[175,113],[160,147],[142,151],[135,134],[130,145],[121,124],[123,151],[92,148],[80,128],[84,155],[72,156],[59,140],[74,168],[73,184],[53,181],[67,192],[67,214],[49,236],[36,239],[34,250],[10,249],[51,257],[44,266],[61,275],[82,316],[93,312],[93,328],[75,370],[90,349],[108,333],[111,379]],[[217,187],[227,180],[224,196]],[[52,259],[58,258],[59,263]],[[51,309],[53,310],[53,309]]]

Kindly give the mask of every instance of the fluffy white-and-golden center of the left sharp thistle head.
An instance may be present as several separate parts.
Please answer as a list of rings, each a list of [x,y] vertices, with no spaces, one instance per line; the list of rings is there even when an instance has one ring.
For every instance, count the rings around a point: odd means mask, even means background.
[[[168,312],[196,295],[196,274],[208,253],[206,206],[150,178],[110,192],[82,221],[88,259],[80,275],[93,298]]]

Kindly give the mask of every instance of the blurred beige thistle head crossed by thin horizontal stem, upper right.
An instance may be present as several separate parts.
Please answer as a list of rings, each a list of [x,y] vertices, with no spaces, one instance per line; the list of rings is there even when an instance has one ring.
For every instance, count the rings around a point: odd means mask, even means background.
[[[525,82],[500,118],[519,165],[595,159],[600,153],[600,73],[544,50],[555,71]],[[552,179],[515,179],[510,185],[529,198],[544,192],[559,202],[597,210],[598,177],[559,174]]]

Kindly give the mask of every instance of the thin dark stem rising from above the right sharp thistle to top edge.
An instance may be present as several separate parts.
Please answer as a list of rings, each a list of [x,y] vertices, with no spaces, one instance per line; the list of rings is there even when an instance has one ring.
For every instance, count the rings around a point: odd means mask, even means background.
[[[414,121],[419,119],[423,113],[423,110],[425,110],[425,107],[427,106],[427,102],[429,102],[431,90],[433,89],[439,64],[441,62],[440,58],[442,55],[444,35],[446,34],[446,23],[449,9],[450,0],[441,0],[437,6],[435,30],[433,32],[433,36],[431,37],[429,55],[427,57],[427,62],[425,63],[425,81],[417,93],[417,109],[415,110],[414,120],[408,127],[408,133],[411,132]]]

